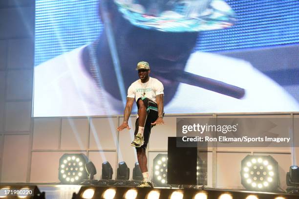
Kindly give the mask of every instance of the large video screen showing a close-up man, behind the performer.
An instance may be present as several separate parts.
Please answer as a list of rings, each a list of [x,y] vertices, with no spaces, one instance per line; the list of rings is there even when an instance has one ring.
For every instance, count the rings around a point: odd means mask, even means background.
[[[36,0],[33,116],[122,114],[140,61],[163,84],[166,113],[299,111],[298,10],[297,0]]]

